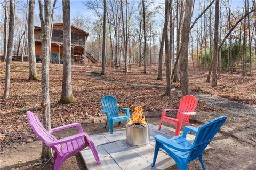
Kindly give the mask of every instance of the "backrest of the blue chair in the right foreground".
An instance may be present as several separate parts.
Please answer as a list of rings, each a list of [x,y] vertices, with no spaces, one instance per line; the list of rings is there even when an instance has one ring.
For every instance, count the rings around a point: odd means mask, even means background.
[[[196,159],[203,153],[207,145],[211,142],[213,137],[217,134],[223,123],[225,123],[227,117],[220,116],[198,128],[195,141],[193,143],[193,149],[189,153],[188,161]]]

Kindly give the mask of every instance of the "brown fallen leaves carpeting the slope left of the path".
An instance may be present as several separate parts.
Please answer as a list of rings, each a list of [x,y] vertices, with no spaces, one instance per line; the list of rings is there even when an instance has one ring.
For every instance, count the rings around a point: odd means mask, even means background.
[[[29,68],[28,63],[12,62],[10,96],[4,100],[0,98],[0,150],[15,147],[17,144],[25,144],[37,140],[27,122],[26,111],[34,112],[42,120],[41,109],[41,82],[28,80],[28,72],[15,71],[13,68],[24,70]],[[101,113],[100,100],[105,95],[113,95],[117,98],[119,107],[130,108],[133,112],[135,106],[141,105],[148,115],[160,112],[162,108],[177,108],[179,98],[177,93],[165,96],[164,90],[156,88],[137,87],[124,84],[115,84],[94,80],[85,74],[85,70],[98,69],[99,67],[72,67],[72,85],[75,102],[60,104],[62,85],[62,65],[51,64],[50,66],[50,98],[51,98],[51,127],[58,127],[74,122],[83,122],[89,119],[91,124],[101,122],[105,114]],[[110,69],[110,68],[109,68]],[[0,70],[5,70],[5,64],[0,63]],[[41,64],[37,64],[38,75],[41,72]],[[141,71],[142,72],[142,71]],[[110,72],[111,75],[112,72]],[[150,78],[145,74],[119,75],[116,78],[125,78],[129,81],[142,78],[147,83]],[[115,76],[116,74],[113,74]],[[4,90],[4,75],[0,75],[0,93]],[[153,77],[153,76],[152,76]],[[155,76],[154,76],[155,78]],[[137,79],[140,82],[140,79]],[[158,80],[154,80],[158,82]],[[152,81],[152,82],[154,82]],[[161,83],[162,84],[162,83]],[[196,111],[211,109],[203,102],[198,103]],[[101,119],[98,119],[102,117]],[[90,123],[88,124],[90,126]],[[102,128],[102,127],[99,127]],[[90,131],[90,129],[89,129]],[[28,140],[29,139],[29,140]]]

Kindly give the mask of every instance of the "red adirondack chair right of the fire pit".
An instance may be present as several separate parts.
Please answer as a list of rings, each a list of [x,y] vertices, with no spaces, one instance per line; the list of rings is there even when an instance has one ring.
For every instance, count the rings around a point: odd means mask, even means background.
[[[163,121],[170,122],[175,125],[175,136],[178,136],[182,124],[190,125],[189,118],[196,114],[194,112],[196,105],[197,99],[193,95],[186,95],[180,99],[179,109],[163,109],[158,130],[161,129]],[[178,111],[176,118],[166,116],[166,111]]]

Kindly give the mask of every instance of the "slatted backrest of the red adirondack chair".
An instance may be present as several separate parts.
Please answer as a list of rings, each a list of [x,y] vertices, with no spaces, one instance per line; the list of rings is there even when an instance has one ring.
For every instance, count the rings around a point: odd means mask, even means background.
[[[194,112],[197,106],[197,99],[193,95],[186,95],[180,99],[180,106],[176,118],[180,119],[185,112]],[[183,117],[183,121],[188,122],[191,115]]]

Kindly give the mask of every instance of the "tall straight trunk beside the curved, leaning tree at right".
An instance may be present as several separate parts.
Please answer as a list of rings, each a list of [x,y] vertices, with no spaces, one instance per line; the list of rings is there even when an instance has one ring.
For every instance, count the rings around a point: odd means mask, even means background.
[[[214,53],[212,59],[212,87],[217,86],[217,60],[218,60],[218,40],[219,40],[219,0],[215,1],[215,23],[214,23]]]

